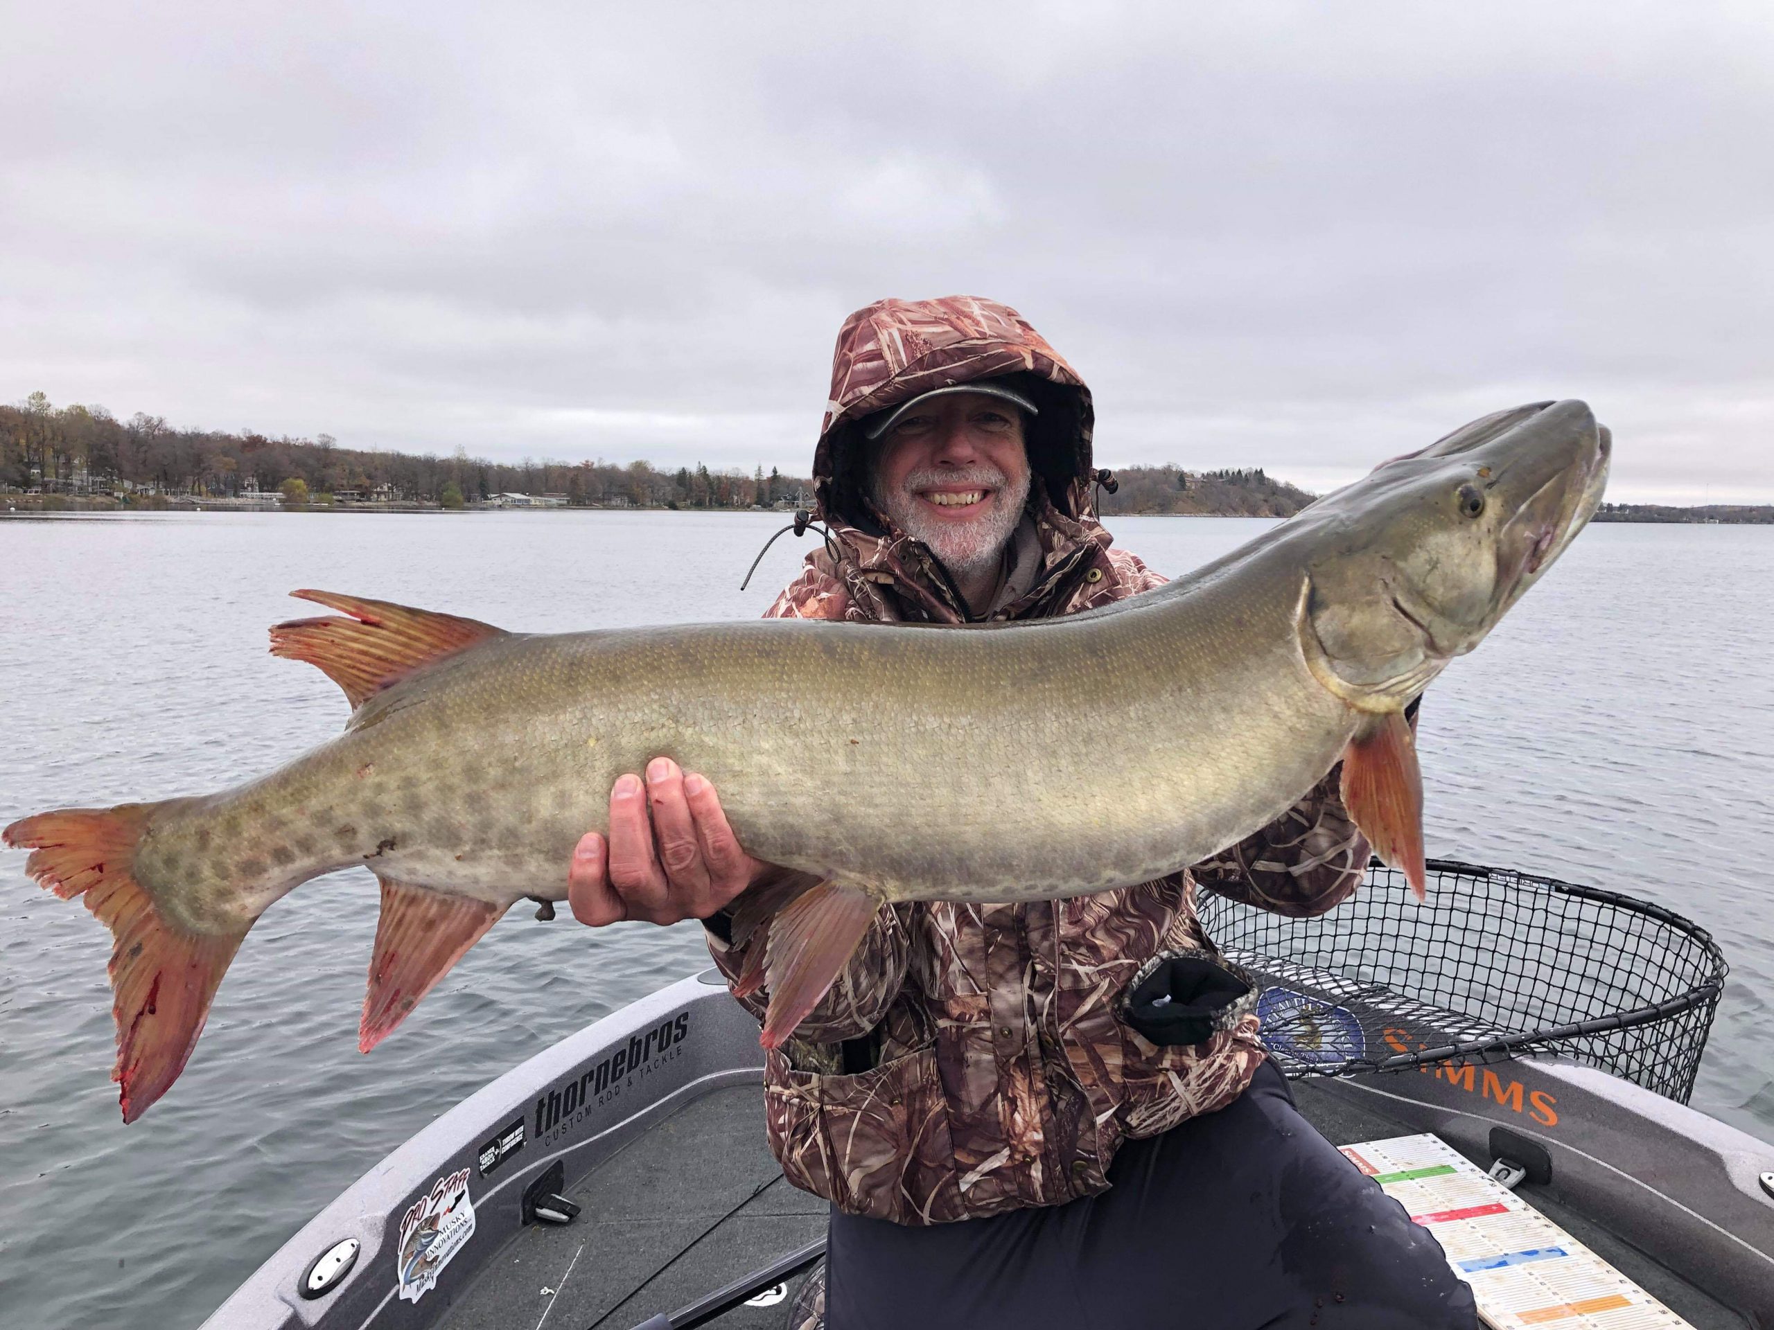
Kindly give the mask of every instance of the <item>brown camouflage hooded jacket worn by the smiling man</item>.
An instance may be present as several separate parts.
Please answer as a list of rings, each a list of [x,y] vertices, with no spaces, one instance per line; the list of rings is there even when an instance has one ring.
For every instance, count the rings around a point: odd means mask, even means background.
[[[944,303],[907,309],[922,314]],[[883,301],[887,321],[896,305]],[[967,301],[969,310],[979,307],[1002,310]],[[844,351],[841,337],[841,371]],[[1050,364],[1071,376],[1057,356]],[[953,381],[979,378],[965,369]],[[940,383],[926,376],[914,390]],[[1024,521],[1036,537],[1020,541],[1031,566],[1018,569],[1017,583],[1027,589],[995,619],[1077,614],[1164,582],[1114,548],[1089,512],[1089,397],[1082,383],[1077,392],[1082,404],[1059,450],[1071,456],[1045,475],[1045,489],[1032,491]],[[869,410],[903,395],[876,394]],[[839,397],[834,387],[834,403]],[[809,555],[768,617],[965,622],[953,585],[922,544],[873,509],[866,525],[844,518],[834,502],[843,459],[832,456],[832,434],[828,411],[814,465],[827,548]],[[1031,440],[1031,461],[1034,454]],[[1183,1048],[1148,1043],[1118,1014],[1118,998],[1142,963],[1167,951],[1210,949],[1196,920],[1196,880],[1306,915],[1345,899],[1366,862],[1368,844],[1343,810],[1332,771],[1283,819],[1192,872],[1068,901],[883,906],[814,1013],[768,1055],[766,1123],[782,1172],[841,1209],[899,1224],[1052,1206],[1105,1190],[1121,1140],[1224,1107],[1263,1057],[1249,1013]],[[710,949],[736,979],[747,947],[711,931]],[[763,993],[745,1002],[763,1014]]]

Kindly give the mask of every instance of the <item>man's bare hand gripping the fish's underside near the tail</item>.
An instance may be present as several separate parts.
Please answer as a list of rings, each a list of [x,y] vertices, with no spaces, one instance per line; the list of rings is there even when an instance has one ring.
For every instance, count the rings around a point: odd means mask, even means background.
[[[715,787],[655,757],[646,787],[624,775],[610,789],[608,842],[587,832],[573,849],[568,901],[573,919],[593,927],[623,919],[676,924],[708,919],[768,871],[740,849]]]

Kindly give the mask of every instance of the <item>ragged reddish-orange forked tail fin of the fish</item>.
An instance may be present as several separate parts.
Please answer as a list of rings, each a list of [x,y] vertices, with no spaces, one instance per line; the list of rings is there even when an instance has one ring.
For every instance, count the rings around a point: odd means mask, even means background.
[[[9,846],[32,851],[25,872],[64,901],[78,896],[112,933],[112,1080],[121,1087],[124,1123],[140,1117],[179,1078],[216,986],[247,936],[247,929],[193,935],[161,919],[133,867],[142,832],[160,807],[57,809],[0,832]]]

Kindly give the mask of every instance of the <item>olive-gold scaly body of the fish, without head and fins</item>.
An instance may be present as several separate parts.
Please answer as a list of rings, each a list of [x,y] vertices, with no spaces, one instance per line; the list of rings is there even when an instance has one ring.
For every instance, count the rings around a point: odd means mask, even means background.
[[[1300,575],[1277,571],[1297,599]],[[750,853],[880,899],[1144,881],[1279,816],[1357,722],[1291,647],[1281,585],[1236,631],[1221,628],[1221,601],[1251,598],[1249,583],[1178,591],[1102,624],[509,638],[396,685],[312,755],[156,823],[137,872],[195,872],[220,901],[263,876],[266,846],[310,825],[314,849],[236,892],[239,917],[351,864],[504,904],[559,901],[573,844],[607,821],[610,784],[663,754],[715,782]],[[1254,638],[1274,649],[1252,653]],[[490,727],[491,713],[522,722]],[[1084,748],[1068,741],[1079,731]],[[1286,752],[1291,770],[1251,780],[1252,745]],[[990,763],[967,761],[979,752]]]

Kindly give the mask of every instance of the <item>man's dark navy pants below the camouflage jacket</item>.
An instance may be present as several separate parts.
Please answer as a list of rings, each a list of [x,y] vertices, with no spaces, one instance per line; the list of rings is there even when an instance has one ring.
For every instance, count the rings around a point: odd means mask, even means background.
[[[1265,1062],[1109,1192],[962,1224],[832,1215],[827,1330],[1476,1330],[1472,1293]]]

